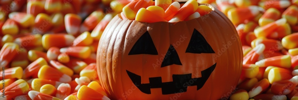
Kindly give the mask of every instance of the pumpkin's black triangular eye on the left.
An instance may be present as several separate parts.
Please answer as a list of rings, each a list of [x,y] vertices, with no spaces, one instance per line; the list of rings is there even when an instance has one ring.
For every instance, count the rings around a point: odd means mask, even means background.
[[[136,41],[128,55],[151,54],[157,55],[157,50],[148,31],[146,31],[139,40]]]

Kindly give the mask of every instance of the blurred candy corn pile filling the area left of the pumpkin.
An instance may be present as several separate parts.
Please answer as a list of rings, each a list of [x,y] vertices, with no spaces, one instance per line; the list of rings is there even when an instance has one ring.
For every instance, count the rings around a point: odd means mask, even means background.
[[[107,100],[98,41],[129,2],[0,0],[0,100]]]

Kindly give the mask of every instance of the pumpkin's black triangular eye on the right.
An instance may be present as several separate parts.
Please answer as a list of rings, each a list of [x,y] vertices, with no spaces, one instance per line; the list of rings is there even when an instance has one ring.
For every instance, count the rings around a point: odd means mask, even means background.
[[[187,46],[185,53],[215,53],[204,36],[196,29],[193,30],[193,35],[190,38],[190,42]]]

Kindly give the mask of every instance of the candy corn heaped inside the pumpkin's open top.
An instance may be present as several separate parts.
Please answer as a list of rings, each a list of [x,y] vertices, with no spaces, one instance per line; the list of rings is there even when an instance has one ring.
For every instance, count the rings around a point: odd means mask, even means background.
[[[189,21],[209,14],[214,8],[211,5],[199,4],[196,0],[177,2],[172,0],[134,0],[123,7],[122,19],[139,22]]]

